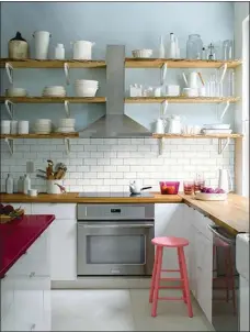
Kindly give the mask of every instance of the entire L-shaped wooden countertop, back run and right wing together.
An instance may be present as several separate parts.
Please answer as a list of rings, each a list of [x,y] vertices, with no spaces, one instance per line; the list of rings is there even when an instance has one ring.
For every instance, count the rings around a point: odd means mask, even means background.
[[[183,193],[160,195],[152,192],[154,197],[79,197],[78,192],[61,195],[39,193],[31,197],[23,193],[0,193],[0,201],[23,203],[178,203],[183,202],[192,206],[203,214],[207,215],[216,224],[226,228],[229,232],[249,232],[249,199],[239,195],[228,195],[227,201],[201,201],[194,197]]]

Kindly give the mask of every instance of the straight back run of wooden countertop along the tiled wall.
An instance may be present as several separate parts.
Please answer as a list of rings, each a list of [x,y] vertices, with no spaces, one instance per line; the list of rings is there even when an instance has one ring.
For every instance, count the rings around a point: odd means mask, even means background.
[[[160,195],[151,192],[152,197],[79,197],[79,192],[60,195],[38,193],[31,197],[24,193],[0,193],[1,202],[25,203],[178,203],[182,202],[179,195]]]

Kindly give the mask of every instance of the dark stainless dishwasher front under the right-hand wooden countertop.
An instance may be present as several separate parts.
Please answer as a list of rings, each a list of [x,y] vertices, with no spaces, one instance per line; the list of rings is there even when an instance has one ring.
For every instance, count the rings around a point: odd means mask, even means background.
[[[212,323],[215,331],[239,331],[236,236],[218,225],[208,228],[214,235]]]

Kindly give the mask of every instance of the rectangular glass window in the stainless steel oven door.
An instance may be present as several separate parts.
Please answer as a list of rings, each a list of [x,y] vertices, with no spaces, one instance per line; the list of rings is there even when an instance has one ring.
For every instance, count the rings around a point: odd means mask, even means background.
[[[145,264],[145,235],[87,236],[88,264]]]

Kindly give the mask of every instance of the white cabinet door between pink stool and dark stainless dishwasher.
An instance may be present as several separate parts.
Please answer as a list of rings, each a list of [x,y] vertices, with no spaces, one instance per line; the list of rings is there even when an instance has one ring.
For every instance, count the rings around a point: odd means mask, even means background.
[[[195,233],[196,299],[212,323],[213,242],[200,231]]]

